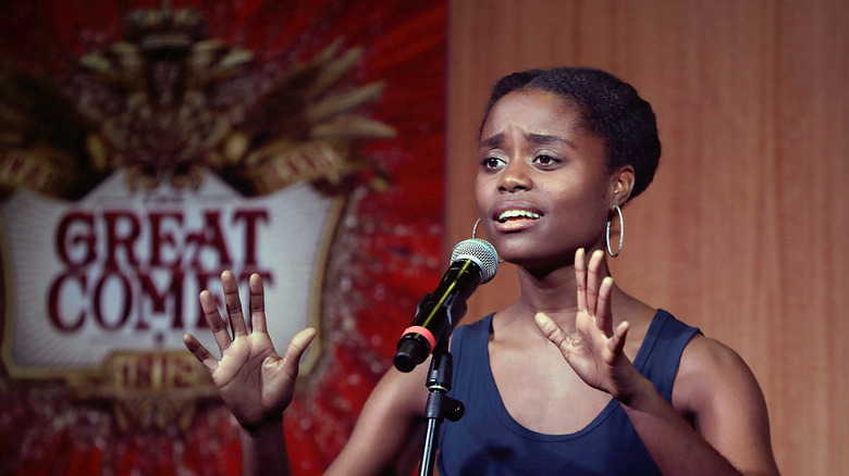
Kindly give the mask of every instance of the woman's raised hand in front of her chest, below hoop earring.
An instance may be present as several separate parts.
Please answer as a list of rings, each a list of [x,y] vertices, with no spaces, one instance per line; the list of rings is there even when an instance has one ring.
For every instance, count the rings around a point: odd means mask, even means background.
[[[578,281],[575,333],[566,334],[544,313],[538,313],[534,320],[587,385],[606,391],[619,401],[627,401],[636,391],[639,372],[624,352],[628,322],[613,328],[613,278],[601,275],[603,260],[604,252],[596,250],[588,266],[583,249],[575,253]]]

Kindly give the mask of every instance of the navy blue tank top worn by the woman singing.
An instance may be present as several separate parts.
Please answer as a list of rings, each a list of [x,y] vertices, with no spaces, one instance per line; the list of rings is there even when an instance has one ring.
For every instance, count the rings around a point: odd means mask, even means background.
[[[507,413],[490,368],[492,315],[458,327],[452,338],[454,385],[448,394],[466,405],[458,422],[440,427],[440,476],[659,475],[649,451],[615,399],[583,429],[544,435]],[[681,352],[699,329],[659,310],[633,364],[672,403]]]

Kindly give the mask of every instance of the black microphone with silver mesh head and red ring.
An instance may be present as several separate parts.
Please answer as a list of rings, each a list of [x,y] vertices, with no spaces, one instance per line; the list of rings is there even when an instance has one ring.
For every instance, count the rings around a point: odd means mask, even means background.
[[[398,340],[395,368],[410,372],[424,362],[466,314],[466,299],[478,286],[489,283],[497,270],[499,255],[489,241],[471,238],[457,243],[448,271],[436,289],[424,295],[413,324]]]

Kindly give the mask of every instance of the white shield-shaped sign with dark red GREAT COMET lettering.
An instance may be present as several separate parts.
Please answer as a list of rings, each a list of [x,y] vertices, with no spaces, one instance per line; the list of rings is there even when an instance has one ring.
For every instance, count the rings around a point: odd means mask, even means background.
[[[7,368],[61,376],[118,350],[185,350],[186,331],[214,351],[197,296],[220,297],[223,270],[243,298],[247,276],[263,275],[269,333],[284,346],[317,324],[341,205],[303,183],[245,198],[210,173],[198,190],[133,192],[119,171],[77,202],[17,189],[0,203]]]

